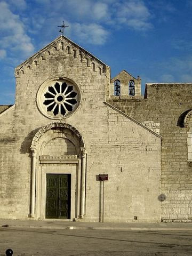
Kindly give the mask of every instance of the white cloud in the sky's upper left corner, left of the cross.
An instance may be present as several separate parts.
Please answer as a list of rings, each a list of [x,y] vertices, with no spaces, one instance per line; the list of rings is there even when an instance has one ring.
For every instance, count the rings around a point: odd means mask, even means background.
[[[2,33],[0,43],[3,49],[18,52],[23,57],[34,52],[34,46],[25,33],[25,26],[19,15],[12,13],[5,2],[0,2],[0,31]]]

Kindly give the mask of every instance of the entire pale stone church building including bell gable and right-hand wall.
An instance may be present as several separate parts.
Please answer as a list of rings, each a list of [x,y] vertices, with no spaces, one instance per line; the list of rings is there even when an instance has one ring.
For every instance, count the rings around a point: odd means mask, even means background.
[[[15,78],[15,104],[0,106],[0,218],[192,220],[192,84],[143,97],[140,77],[111,79],[64,36]]]

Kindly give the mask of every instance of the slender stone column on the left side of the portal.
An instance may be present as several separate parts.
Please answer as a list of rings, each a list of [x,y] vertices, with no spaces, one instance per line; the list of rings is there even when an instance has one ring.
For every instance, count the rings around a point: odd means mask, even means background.
[[[36,149],[31,149],[32,152],[32,175],[31,175],[31,210],[30,217],[35,217],[35,176],[36,176]]]

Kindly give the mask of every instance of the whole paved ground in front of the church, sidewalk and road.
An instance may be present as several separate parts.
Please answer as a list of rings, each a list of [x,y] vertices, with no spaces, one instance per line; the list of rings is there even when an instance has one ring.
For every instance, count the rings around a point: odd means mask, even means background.
[[[0,256],[188,256],[192,223],[0,220]]]

